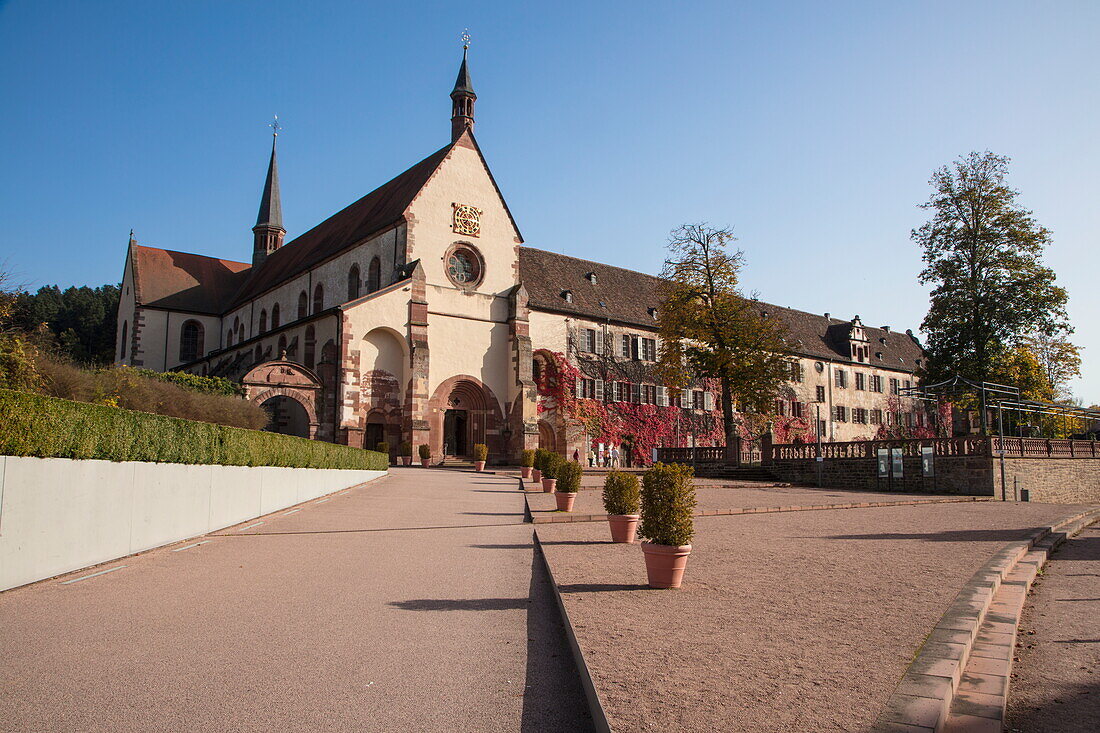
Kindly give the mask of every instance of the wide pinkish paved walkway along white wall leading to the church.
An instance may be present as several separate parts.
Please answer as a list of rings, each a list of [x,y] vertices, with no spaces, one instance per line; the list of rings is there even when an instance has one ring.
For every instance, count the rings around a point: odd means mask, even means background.
[[[2,593],[0,731],[587,730],[516,486],[395,469]]]

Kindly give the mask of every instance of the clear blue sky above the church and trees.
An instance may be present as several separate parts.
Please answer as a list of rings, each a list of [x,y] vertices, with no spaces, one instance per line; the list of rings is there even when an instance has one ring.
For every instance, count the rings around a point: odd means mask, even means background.
[[[246,260],[273,113],[287,239],[477,139],[532,247],[656,272],[733,225],[767,300],[916,328],[932,169],[1013,158],[1100,402],[1100,3],[0,0],[0,260],[121,277],[127,236]]]

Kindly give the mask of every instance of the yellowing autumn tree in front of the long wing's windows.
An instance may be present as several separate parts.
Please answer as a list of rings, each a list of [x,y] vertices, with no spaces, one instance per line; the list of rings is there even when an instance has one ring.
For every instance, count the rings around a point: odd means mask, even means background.
[[[744,253],[730,250],[733,232],[684,225],[669,238],[661,305],[658,365],[664,381],[684,387],[696,379],[721,385],[726,445],[738,422],[735,405],[772,415],[791,376],[787,328],[738,284]]]

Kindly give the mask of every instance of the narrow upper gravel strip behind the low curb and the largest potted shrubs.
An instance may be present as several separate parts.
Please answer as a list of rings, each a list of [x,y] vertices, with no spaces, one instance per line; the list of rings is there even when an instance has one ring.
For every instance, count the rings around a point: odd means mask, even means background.
[[[818,504],[858,504],[860,502],[902,502],[906,500],[949,499],[944,494],[903,494],[901,492],[844,491],[806,486],[715,489],[696,486],[696,512],[729,510],[740,506],[814,506]],[[553,494],[528,491],[531,514],[557,511]],[[573,503],[574,514],[603,514],[603,492],[579,491]]]

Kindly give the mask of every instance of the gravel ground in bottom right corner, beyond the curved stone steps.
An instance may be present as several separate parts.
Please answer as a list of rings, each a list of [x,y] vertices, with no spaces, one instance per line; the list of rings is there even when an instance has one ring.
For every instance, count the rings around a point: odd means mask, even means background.
[[[1032,586],[1018,642],[1008,730],[1100,730],[1100,526],[1052,556]]]

